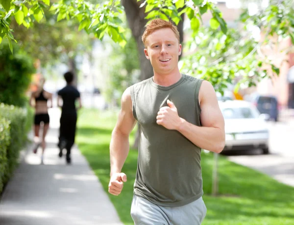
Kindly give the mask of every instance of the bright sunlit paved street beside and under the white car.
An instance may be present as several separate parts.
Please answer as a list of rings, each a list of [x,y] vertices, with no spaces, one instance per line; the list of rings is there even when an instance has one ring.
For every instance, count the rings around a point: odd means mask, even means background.
[[[261,150],[227,152],[232,162],[257,169],[294,187],[294,120],[269,123],[270,154]]]

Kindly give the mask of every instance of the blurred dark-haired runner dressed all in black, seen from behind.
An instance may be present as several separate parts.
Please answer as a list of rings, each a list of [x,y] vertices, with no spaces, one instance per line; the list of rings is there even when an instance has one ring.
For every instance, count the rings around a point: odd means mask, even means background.
[[[60,128],[59,128],[59,143],[58,147],[60,149],[59,157],[62,157],[62,151],[66,148],[66,162],[71,163],[71,149],[74,143],[75,129],[76,129],[76,107],[75,101],[78,101],[78,109],[82,107],[80,93],[72,85],[73,83],[73,73],[66,72],[64,74],[64,79],[67,85],[58,91],[57,104],[62,108],[60,117]],[[62,104],[61,104],[62,99]]]

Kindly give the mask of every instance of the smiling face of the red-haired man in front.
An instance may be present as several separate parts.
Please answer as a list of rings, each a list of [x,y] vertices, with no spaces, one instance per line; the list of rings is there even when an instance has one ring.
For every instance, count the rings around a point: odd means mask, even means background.
[[[147,36],[144,52],[155,72],[169,74],[178,68],[182,45],[172,29],[163,28]]]

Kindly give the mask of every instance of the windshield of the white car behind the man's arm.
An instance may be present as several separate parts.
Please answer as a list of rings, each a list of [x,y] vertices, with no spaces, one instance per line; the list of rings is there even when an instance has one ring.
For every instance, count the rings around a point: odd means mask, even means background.
[[[258,118],[259,113],[249,107],[221,109],[224,119]]]

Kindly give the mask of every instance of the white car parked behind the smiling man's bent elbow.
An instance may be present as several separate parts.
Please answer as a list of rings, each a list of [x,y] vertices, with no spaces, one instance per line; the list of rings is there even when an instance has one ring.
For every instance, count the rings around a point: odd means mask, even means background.
[[[249,150],[261,148],[269,153],[268,114],[260,114],[246,101],[219,101],[225,122],[225,147],[223,150]]]

